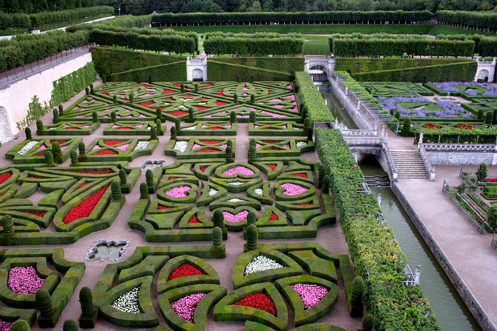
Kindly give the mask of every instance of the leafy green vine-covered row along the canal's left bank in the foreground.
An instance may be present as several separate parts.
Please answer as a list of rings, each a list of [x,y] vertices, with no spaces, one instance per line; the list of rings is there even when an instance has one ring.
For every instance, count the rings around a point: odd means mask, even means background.
[[[375,330],[440,331],[420,286],[406,287],[402,274],[407,258],[387,225],[379,224],[378,201],[373,195],[354,193],[362,173],[338,130],[316,130],[318,155],[327,167],[333,200],[358,275],[366,283],[368,312],[375,315]],[[355,166],[354,166],[355,165]],[[388,302],[388,304],[385,304]],[[417,314],[405,314],[406,309]],[[416,327],[414,327],[416,326]]]

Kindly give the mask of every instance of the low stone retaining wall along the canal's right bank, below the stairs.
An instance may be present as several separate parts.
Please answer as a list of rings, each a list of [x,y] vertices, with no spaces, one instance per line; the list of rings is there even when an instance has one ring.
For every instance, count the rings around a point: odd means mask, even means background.
[[[428,230],[426,225],[424,225],[422,219],[416,213],[416,211],[414,210],[413,206],[408,201],[404,193],[402,193],[397,183],[391,183],[391,189],[395,194],[395,196],[397,197],[397,199],[399,199],[404,210],[406,210],[407,214],[413,221],[413,224],[416,227],[417,231],[419,231],[419,234],[421,235],[421,237],[423,237],[424,241],[430,248],[430,251],[433,253],[436,260],[438,261],[440,266],[443,268],[443,270],[449,277],[450,281],[456,288],[457,292],[463,299],[464,303],[466,304],[466,306],[468,306],[469,310],[477,320],[478,324],[480,324],[480,326],[484,331],[497,331],[497,327],[494,324],[494,322],[492,322],[492,320],[487,315],[487,313],[480,305],[478,300],[475,298],[469,287],[461,278],[456,268],[447,258],[442,248],[438,245],[435,238],[433,238],[430,231]]]

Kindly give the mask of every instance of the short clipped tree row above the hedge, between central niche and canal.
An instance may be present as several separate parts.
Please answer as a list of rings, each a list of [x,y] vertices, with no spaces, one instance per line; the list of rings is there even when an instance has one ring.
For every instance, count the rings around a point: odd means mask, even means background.
[[[221,37],[214,36],[204,41],[206,54],[302,54],[304,52],[304,38],[281,35],[276,38]]]

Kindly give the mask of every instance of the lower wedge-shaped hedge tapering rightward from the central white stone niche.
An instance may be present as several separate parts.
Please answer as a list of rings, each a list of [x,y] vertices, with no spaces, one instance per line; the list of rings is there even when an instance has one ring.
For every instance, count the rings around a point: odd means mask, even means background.
[[[293,75],[283,71],[266,70],[250,66],[232,65],[217,61],[207,62],[207,78],[209,81],[233,81],[240,75],[242,81],[248,81],[251,75],[259,81],[291,81]],[[185,69],[186,70],[186,69]],[[186,72],[186,71],[185,71]]]

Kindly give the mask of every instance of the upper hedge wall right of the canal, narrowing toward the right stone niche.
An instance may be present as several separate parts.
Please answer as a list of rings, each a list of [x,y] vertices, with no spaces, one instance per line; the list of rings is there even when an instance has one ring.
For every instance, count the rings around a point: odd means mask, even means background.
[[[345,71],[350,69],[352,74],[379,71],[407,69],[420,66],[438,66],[452,63],[468,62],[466,59],[378,59],[378,58],[336,58],[335,70]]]

